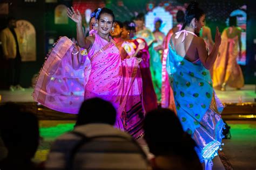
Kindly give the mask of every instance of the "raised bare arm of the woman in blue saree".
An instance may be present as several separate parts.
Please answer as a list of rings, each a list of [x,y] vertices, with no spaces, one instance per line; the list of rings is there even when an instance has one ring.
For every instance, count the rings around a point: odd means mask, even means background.
[[[203,63],[204,67],[206,69],[210,69],[217,58],[217,55],[219,52],[219,46],[221,44],[221,35],[219,32],[219,28],[216,27],[215,44],[212,48],[212,52],[210,55],[207,54],[204,39],[199,38],[198,41],[199,41],[199,44],[198,44],[197,50],[198,50],[199,58]]]

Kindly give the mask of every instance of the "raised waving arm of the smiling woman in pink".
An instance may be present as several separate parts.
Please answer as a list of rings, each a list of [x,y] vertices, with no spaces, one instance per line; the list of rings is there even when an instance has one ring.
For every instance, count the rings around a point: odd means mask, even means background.
[[[71,9],[67,8],[68,17],[71,18],[77,25],[77,42],[78,45],[82,48],[90,48],[93,44],[93,38],[84,37],[83,27],[82,27],[82,16],[78,10],[74,10],[71,6]]]

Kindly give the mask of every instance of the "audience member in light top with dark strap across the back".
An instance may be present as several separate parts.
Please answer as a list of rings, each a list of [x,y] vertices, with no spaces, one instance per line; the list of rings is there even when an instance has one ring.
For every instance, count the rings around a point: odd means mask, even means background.
[[[146,155],[137,142],[113,128],[116,116],[110,102],[84,101],[75,129],[53,143],[45,169],[147,169]]]

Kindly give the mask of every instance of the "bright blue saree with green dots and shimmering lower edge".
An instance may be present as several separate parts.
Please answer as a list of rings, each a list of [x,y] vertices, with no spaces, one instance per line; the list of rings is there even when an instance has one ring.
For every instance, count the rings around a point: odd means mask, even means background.
[[[173,89],[178,118],[184,131],[196,141],[199,159],[218,154],[224,126],[220,112],[223,105],[212,87],[209,71],[199,60],[190,62],[169,45],[166,69]]]

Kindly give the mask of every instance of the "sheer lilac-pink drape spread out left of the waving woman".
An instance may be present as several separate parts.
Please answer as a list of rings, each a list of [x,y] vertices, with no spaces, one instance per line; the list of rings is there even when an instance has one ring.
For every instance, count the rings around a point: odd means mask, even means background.
[[[84,101],[84,72],[89,66],[83,58],[84,64],[78,70],[73,69],[72,49],[73,42],[68,37],[58,40],[40,71],[32,96],[48,108],[77,114]]]

